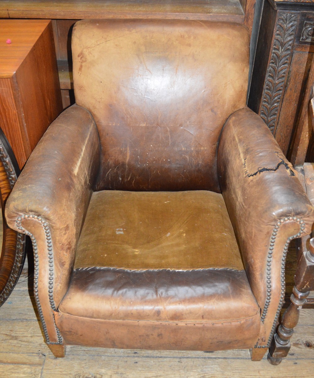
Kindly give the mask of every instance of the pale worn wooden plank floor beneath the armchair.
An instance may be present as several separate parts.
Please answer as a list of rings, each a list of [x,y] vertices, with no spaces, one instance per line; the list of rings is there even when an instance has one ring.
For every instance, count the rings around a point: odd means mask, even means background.
[[[31,269],[30,269],[31,270]],[[291,350],[278,366],[266,355],[252,362],[249,350],[178,352],[68,346],[55,358],[43,341],[27,264],[0,308],[0,378],[11,377],[314,377],[314,309],[302,309]]]

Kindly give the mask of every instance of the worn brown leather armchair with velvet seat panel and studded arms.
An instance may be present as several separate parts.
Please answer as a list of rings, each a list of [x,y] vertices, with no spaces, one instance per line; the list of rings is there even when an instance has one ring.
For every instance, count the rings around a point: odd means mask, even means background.
[[[84,20],[76,104],[6,204],[34,248],[46,342],[251,349],[263,357],[290,240],[313,208],[246,107],[249,34],[234,23]]]

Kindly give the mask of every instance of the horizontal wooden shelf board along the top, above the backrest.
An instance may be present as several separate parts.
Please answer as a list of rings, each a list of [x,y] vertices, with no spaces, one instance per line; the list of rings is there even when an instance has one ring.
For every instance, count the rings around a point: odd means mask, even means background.
[[[240,0],[1,1],[0,18],[163,18],[244,22]]]

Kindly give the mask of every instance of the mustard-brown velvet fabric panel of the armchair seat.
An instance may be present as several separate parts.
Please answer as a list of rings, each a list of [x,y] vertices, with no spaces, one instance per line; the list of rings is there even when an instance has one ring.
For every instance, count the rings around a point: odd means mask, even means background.
[[[74,268],[243,269],[221,194],[94,192]]]

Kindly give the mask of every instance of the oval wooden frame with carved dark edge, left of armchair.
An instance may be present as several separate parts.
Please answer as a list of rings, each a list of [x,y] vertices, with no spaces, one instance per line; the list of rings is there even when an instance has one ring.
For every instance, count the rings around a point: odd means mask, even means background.
[[[0,203],[3,222],[3,240],[0,255],[0,307],[14,289],[25,261],[25,235],[11,230],[4,217],[6,198],[19,174],[20,169],[14,153],[6,136],[0,129]]]

